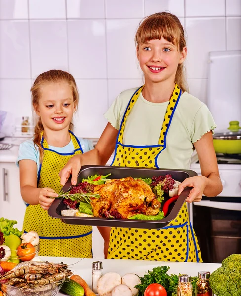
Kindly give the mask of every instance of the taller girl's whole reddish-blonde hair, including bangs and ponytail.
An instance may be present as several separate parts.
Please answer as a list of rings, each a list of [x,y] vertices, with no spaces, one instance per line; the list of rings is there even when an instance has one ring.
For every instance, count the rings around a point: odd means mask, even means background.
[[[160,40],[161,38],[176,45],[180,52],[186,46],[183,26],[175,15],[168,12],[158,12],[144,18],[137,29],[135,44],[139,47],[150,40]],[[188,90],[183,64],[179,64],[177,67],[175,82],[183,91]]]

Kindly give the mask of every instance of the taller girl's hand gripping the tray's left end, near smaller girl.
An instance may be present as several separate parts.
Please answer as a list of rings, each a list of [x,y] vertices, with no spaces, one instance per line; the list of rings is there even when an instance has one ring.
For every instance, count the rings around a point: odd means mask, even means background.
[[[64,186],[66,181],[69,179],[70,175],[72,175],[71,184],[75,186],[77,183],[77,176],[80,172],[81,166],[81,155],[74,155],[59,172],[60,184]]]

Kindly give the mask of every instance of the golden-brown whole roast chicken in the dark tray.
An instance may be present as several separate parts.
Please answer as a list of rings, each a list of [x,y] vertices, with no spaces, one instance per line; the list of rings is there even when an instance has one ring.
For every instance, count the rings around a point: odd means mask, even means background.
[[[102,185],[95,185],[91,198],[95,217],[129,218],[136,214],[157,215],[161,203],[144,181],[132,177],[112,179]]]

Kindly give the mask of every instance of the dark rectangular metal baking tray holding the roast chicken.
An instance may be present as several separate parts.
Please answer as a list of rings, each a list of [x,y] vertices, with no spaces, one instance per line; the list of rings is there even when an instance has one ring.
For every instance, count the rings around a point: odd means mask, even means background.
[[[152,178],[153,176],[161,176],[171,174],[172,178],[183,182],[188,177],[197,176],[197,173],[191,170],[173,170],[173,169],[140,169],[129,167],[115,167],[115,166],[82,166],[78,178],[77,184],[90,175],[107,175],[110,174],[111,179],[120,179],[125,177],[133,178]],[[71,178],[68,179],[62,190],[67,192],[71,190]],[[126,227],[126,228],[142,228],[142,229],[160,229],[174,220],[182,205],[184,204],[190,190],[192,188],[186,187],[179,196],[176,203],[171,205],[166,217],[162,220],[130,220],[130,219],[116,219],[116,218],[100,218],[100,217],[66,217],[61,215],[61,210],[67,209],[67,206],[63,203],[63,199],[56,198],[50,208],[48,209],[49,216],[57,219],[61,219],[66,224],[73,225],[91,225],[91,226],[109,226],[109,227]],[[168,197],[166,197],[168,199]],[[162,202],[164,204],[165,200]]]

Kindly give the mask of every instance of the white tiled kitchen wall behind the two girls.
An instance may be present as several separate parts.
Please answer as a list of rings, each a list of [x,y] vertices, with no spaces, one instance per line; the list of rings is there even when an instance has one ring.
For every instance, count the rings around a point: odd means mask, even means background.
[[[164,10],[186,29],[190,92],[206,102],[208,52],[241,50],[241,0],[0,0],[4,131],[31,116],[36,76],[58,68],[79,87],[76,134],[99,137],[103,113],[118,93],[141,85],[134,47],[139,22]]]

